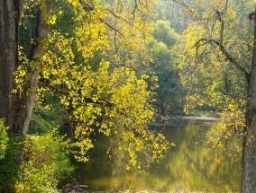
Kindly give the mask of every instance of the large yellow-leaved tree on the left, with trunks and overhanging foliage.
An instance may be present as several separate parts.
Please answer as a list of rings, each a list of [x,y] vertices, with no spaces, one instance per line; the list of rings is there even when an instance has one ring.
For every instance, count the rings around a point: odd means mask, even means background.
[[[0,55],[0,113],[11,134],[27,135],[34,103],[47,93],[58,96],[67,112],[78,161],[88,161],[90,137],[96,132],[125,142],[119,147],[129,156],[127,168],[143,170],[163,157],[169,143],[147,127],[153,120],[155,85],[148,88],[150,76],[132,70],[139,61],[133,56],[140,54],[143,61],[151,38],[151,1],[2,4],[1,29],[6,33]],[[51,27],[66,11],[73,15],[66,20],[71,31]],[[24,34],[29,39],[22,39]]]

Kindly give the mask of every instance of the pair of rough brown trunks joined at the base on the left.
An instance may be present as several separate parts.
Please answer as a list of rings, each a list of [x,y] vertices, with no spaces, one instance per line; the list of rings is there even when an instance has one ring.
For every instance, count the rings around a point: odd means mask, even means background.
[[[47,15],[53,0],[45,0],[37,15],[35,44],[31,50],[29,81],[21,99],[15,99],[14,72],[18,64],[18,31],[23,11],[23,0],[0,0],[0,118],[5,118],[5,125],[10,126],[10,133],[27,134],[32,116],[33,103],[36,100],[36,87],[39,82],[40,58],[45,51],[49,33]]]

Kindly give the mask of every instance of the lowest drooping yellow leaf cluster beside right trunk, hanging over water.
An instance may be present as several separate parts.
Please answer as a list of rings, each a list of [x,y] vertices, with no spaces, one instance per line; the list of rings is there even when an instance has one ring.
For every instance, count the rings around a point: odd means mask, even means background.
[[[244,105],[242,100],[226,101],[224,109],[219,113],[222,119],[216,125],[217,129],[207,133],[208,144],[215,148],[215,153],[228,155],[233,160],[237,160],[242,152],[242,137],[246,127],[245,110],[241,108]]]

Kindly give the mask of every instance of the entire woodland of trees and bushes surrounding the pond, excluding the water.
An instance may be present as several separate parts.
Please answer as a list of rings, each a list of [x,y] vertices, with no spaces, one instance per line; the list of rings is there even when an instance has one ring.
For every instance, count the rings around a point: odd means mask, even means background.
[[[124,170],[147,170],[173,145],[154,120],[206,114],[222,120],[212,142],[242,151],[241,191],[253,192],[254,6],[1,0],[0,190],[58,192],[97,135]]]

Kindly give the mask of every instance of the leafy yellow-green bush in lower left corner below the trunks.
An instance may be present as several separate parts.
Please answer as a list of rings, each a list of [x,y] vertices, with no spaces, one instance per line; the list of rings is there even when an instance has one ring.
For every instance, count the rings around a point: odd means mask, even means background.
[[[43,136],[8,137],[0,119],[0,192],[59,192],[57,185],[74,170],[68,142],[53,130]]]

